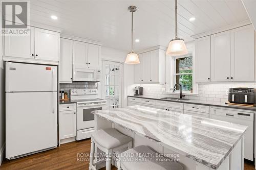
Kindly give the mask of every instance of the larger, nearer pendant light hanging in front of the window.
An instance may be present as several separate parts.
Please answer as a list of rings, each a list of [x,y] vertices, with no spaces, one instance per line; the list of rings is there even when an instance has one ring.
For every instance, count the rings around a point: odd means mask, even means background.
[[[187,48],[183,39],[178,38],[177,28],[177,0],[175,0],[175,38],[170,40],[166,55],[168,56],[182,56],[187,54]]]

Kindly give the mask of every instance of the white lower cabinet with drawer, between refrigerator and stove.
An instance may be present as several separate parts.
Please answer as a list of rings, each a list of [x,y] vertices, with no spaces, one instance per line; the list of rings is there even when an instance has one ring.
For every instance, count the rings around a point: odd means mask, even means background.
[[[76,109],[70,110],[69,108],[76,108],[76,104],[62,104],[59,111],[59,139],[68,139],[76,136]],[[75,138],[73,138],[73,141]],[[72,141],[72,140],[71,140]],[[68,140],[61,143],[69,142]]]

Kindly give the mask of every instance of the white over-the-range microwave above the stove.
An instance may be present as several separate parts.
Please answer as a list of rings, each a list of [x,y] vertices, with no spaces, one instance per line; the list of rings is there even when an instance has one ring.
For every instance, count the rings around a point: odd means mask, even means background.
[[[73,68],[73,81],[97,81],[97,70],[88,69],[81,66]]]

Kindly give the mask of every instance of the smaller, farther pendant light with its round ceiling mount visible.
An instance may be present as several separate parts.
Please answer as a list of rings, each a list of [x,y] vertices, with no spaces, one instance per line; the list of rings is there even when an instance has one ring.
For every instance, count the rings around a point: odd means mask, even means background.
[[[139,61],[138,54],[134,53],[134,51],[133,51],[133,13],[137,10],[137,7],[130,6],[130,7],[128,7],[128,10],[130,12],[132,12],[132,51],[131,51],[131,53],[127,54],[125,63],[126,64],[139,64],[140,61]]]

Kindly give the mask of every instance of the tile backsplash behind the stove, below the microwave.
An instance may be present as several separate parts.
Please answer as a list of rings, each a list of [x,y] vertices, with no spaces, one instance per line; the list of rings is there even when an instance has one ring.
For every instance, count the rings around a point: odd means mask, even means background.
[[[60,83],[59,89],[64,89],[68,93],[70,98],[70,89],[98,89],[98,83],[96,82],[72,82],[72,83]]]

